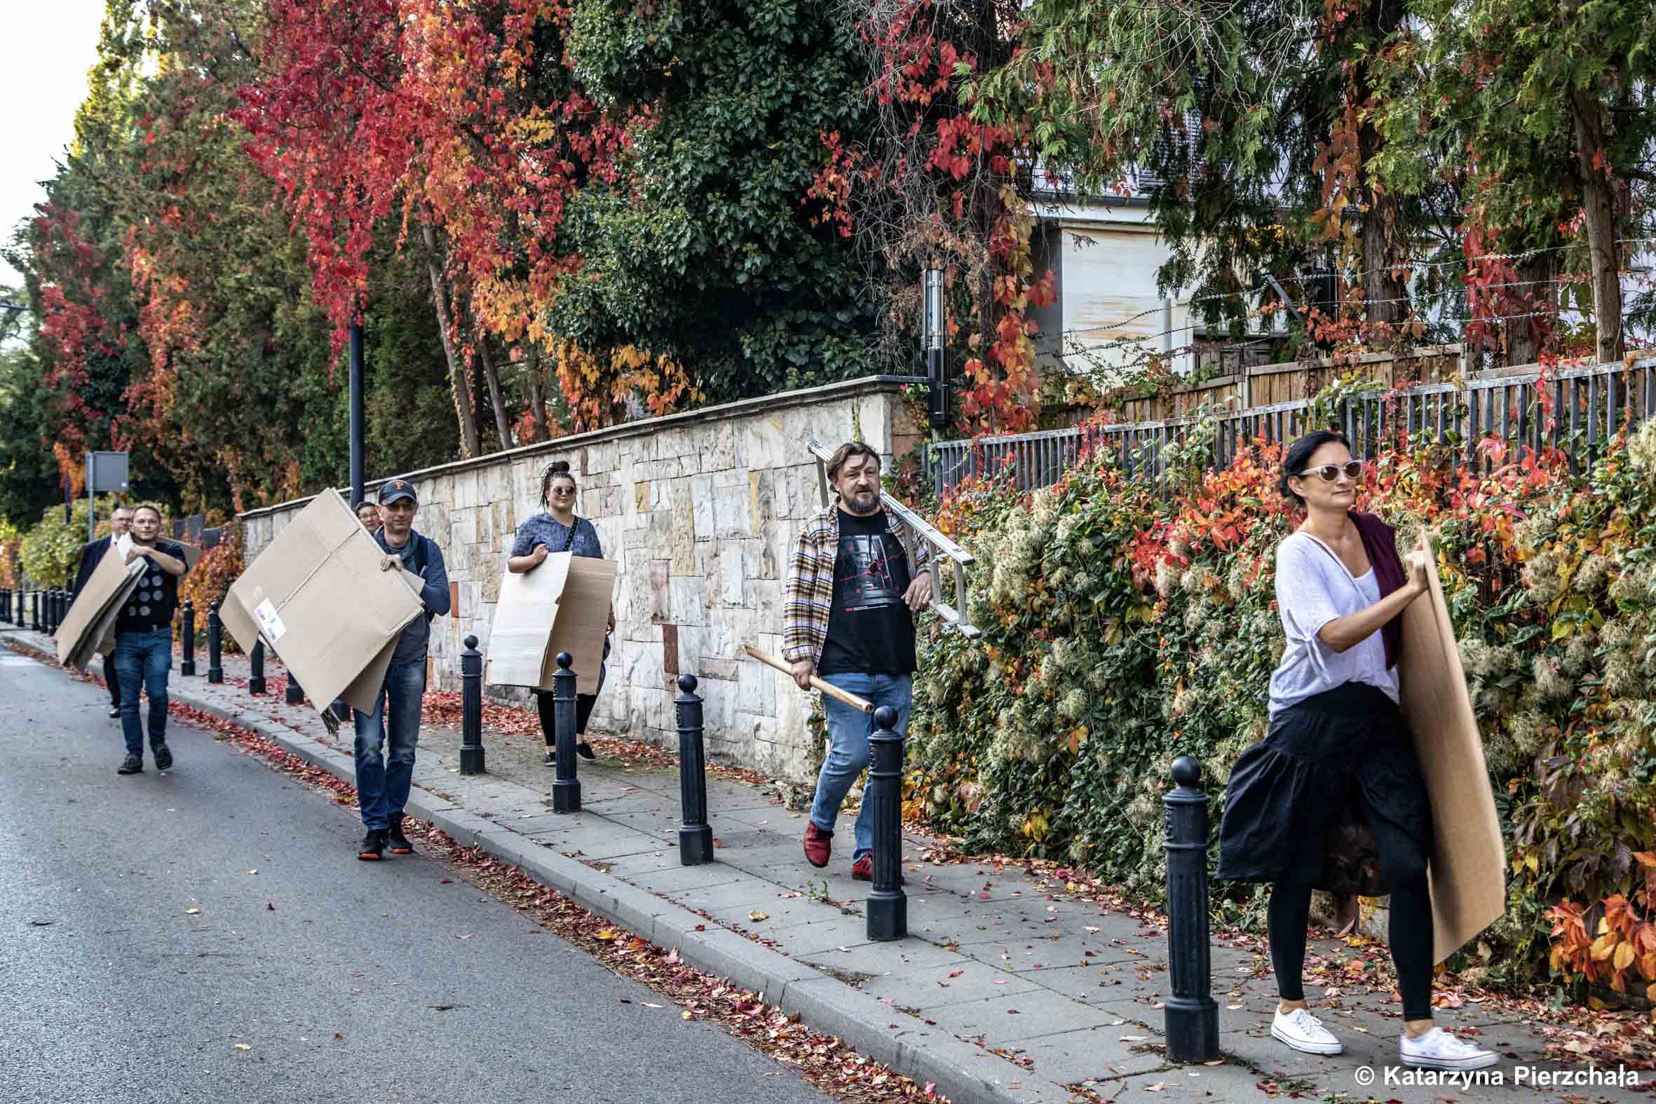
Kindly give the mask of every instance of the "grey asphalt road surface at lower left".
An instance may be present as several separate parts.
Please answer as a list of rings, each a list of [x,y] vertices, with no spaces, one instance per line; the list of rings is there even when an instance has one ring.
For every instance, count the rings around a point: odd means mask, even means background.
[[[209,732],[118,776],[106,708],[0,649],[0,1101],[828,1099]]]

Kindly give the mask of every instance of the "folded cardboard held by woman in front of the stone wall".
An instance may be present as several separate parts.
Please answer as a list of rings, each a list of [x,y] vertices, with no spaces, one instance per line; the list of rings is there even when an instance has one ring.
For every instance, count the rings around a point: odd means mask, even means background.
[[[558,652],[568,652],[575,692],[598,694],[614,584],[614,561],[575,553],[551,553],[523,574],[505,571],[489,631],[489,685],[550,690]]]

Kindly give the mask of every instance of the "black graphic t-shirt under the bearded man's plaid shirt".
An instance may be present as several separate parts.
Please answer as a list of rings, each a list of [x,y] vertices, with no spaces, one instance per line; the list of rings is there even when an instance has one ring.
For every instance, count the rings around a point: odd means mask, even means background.
[[[903,601],[907,589],[909,558],[888,531],[886,511],[861,518],[841,510],[833,611],[816,674],[914,674],[914,614]]]

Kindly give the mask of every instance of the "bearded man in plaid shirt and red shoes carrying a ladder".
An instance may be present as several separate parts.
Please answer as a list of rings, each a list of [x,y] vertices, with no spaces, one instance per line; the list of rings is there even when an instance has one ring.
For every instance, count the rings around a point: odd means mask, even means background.
[[[879,505],[879,454],[861,442],[840,445],[828,462],[836,502],[805,523],[788,564],[782,609],[782,654],[793,680],[811,675],[898,710],[909,723],[914,675],[914,612],[931,601],[931,550]],[[823,697],[828,756],[805,823],[805,859],[828,866],[840,804],[868,766],[874,718]],[[851,877],[874,877],[869,803],[856,816]]]

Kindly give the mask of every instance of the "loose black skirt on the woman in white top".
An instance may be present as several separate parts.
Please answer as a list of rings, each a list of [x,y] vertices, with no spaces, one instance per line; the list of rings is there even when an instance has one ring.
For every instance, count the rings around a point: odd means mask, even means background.
[[[1408,723],[1384,690],[1348,682],[1277,713],[1237,760],[1219,877],[1378,897],[1391,887],[1376,828],[1418,862],[1431,854],[1431,801]]]

